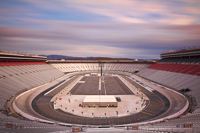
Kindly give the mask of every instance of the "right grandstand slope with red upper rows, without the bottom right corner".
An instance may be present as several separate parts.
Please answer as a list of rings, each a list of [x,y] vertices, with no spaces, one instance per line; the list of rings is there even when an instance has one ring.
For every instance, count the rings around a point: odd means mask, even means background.
[[[194,96],[197,103],[200,103],[199,67],[199,65],[185,64],[153,64],[140,71],[138,75],[175,90],[188,88],[191,90],[188,94]]]

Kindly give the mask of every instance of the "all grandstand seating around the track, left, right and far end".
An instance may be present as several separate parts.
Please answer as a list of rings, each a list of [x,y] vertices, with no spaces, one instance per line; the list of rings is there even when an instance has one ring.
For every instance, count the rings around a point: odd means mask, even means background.
[[[168,86],[175,90],[189,88],[188,94],[196,98],[200,103],[200,65],[199,64],[177,64],[177,63],[156,63],[148,64],[131,64],[131,63],[105,63],[103,69],[105,71],[124,71],[134,73],[139,71],[137,75],[149,79],[151,81]],[[44,62],[3,62],[0,63],[0,120],[5,123],[19,123],[22,126],[49,127],[47,124],[42,125],[37,122],[27,120],[18,120],[17,118],[7,116],[2,112],[5,110],[4,104],[14,96],[17,92],[28,90],[33,87],[50,82],[64,75],[63,72],[75,71],[99,71],[98,63],[52,63]],[[200,105],[198,105],[200,107]],[[200,111],[196,111],[190,115],[180,117],[179,119],[169,120],[167,122],[156,123],[141,126],[141,128],[157,129],[161,127],[177,128],[176,125],[186,122],[192,123],[193,127],[200,127]],[[176,123],[176,125],[175,125]],[[55,126],[56,128],[56,126]],[[59,126],[57,127],[60,128]],[[164,130],[163,130],[164,131]],[[147,131],[148,132],[148,131]]]

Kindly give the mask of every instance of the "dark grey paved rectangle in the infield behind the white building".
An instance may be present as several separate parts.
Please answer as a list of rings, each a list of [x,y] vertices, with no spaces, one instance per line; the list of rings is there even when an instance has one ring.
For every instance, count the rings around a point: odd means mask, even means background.
[[[98,76],[83,77],[81,81],[85,83],[78,83],[71,90],[72,95],[132,95],[130,89],[115,76],[103,76],[101,83],[101,91],[99,91]]]

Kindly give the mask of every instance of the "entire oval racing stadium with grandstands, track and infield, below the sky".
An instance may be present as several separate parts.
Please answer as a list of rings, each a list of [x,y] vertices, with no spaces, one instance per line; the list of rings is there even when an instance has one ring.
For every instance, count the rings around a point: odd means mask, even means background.
[[[0,132],[200,132],[200,49],[158,61],[0,53]]]

